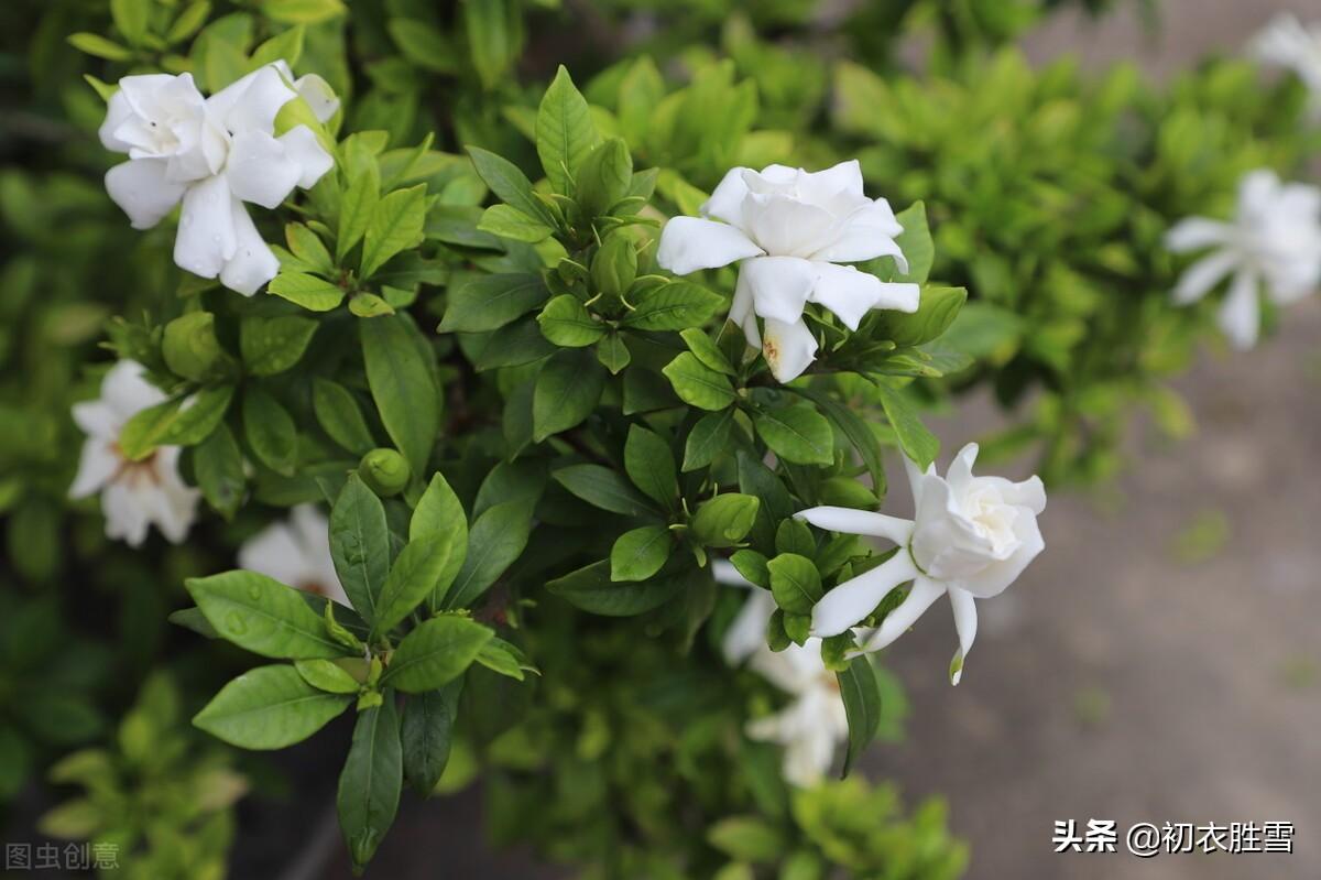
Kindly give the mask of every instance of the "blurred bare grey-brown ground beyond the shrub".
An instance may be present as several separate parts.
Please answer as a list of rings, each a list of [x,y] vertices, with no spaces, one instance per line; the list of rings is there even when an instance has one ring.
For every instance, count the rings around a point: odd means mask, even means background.
[[[1066,16],[1028,50],[1038,61],[1081,50],[1091,65],[1135,58],[1168,74],[1205,52],[1236,52],[1277,9],[1321,18],[1321,0],[1162,8],[1155,36],[1136,15],[1099,26]],[[946,679],[955,634],[943,608],[888,653],[910,691],[910,736],[877,747],[871,769],[910,799],[948,798],[972,846],[970,880],[1321,877],[1321,300],[1287,312],[1258,351],[1207,355],[1178,387],[1197,436],[1174,447],[1135,437],[1118,505],[1052,495],[1046,552],[982,605],[958,688]],[[942,425],[947,451],[992,419],[972,406]],[[373,873],[437,876],[417,847],[478,840],[474,807],[413,805]],[[1284,821],[1295,854],[1054,855],[1057,819]],[[304,876],[347,877],[332,852],[328,873],[306,865]],[[443,871],[559,876],[468,846],[445,847]]]

